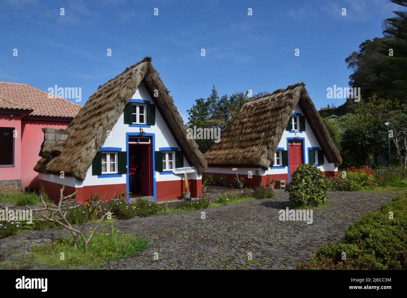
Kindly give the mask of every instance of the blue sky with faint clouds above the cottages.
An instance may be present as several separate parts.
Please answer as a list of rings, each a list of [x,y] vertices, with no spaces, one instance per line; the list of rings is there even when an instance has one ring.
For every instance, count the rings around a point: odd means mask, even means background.
[[[388,0],[0,0],[0,81],[81,87],[83,105],[99,85],[151,56],[184,118],[213,84],[230,95],[304,81],[319,109],[343,103],[327,99],[326,88],[348,86],[344,59],[381,37],[381,21],[402,9]]]

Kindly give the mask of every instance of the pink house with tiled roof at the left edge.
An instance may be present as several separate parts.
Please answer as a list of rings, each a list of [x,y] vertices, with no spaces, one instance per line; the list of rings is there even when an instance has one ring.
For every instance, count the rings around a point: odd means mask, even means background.
[[[34,166],[43,127],[66,128],[81,105],[19,83],[0,82],[0,190],[38,190]]]

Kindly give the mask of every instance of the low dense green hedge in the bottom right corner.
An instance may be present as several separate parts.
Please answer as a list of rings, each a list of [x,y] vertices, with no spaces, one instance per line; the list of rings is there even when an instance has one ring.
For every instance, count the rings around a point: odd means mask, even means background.
[[[396,197],[352,223],[344,243],[319,247],[310,262],[299,269],[407,269],[406,247],[407,198]],[[346,260],[342,260],[343,252]]]

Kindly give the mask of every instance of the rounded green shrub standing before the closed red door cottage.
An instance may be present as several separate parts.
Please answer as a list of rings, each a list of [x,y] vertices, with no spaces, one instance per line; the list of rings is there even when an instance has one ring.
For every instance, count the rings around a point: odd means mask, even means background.
[[[327,200],[329,180],[314,164],[300,164],[291,175],[289,199],[302,206],[318,206]]]

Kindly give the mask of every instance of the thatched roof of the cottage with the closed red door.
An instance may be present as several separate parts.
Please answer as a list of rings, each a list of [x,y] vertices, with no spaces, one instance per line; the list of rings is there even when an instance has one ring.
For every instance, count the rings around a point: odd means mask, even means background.
[[[336,166],[341,164],[341,155],[304,83],[297,83],[245,103],[222,132],[220,142],[214,143],[204,154],[208,166],[268,169],[297,104],[324,150],[326,159]]]

